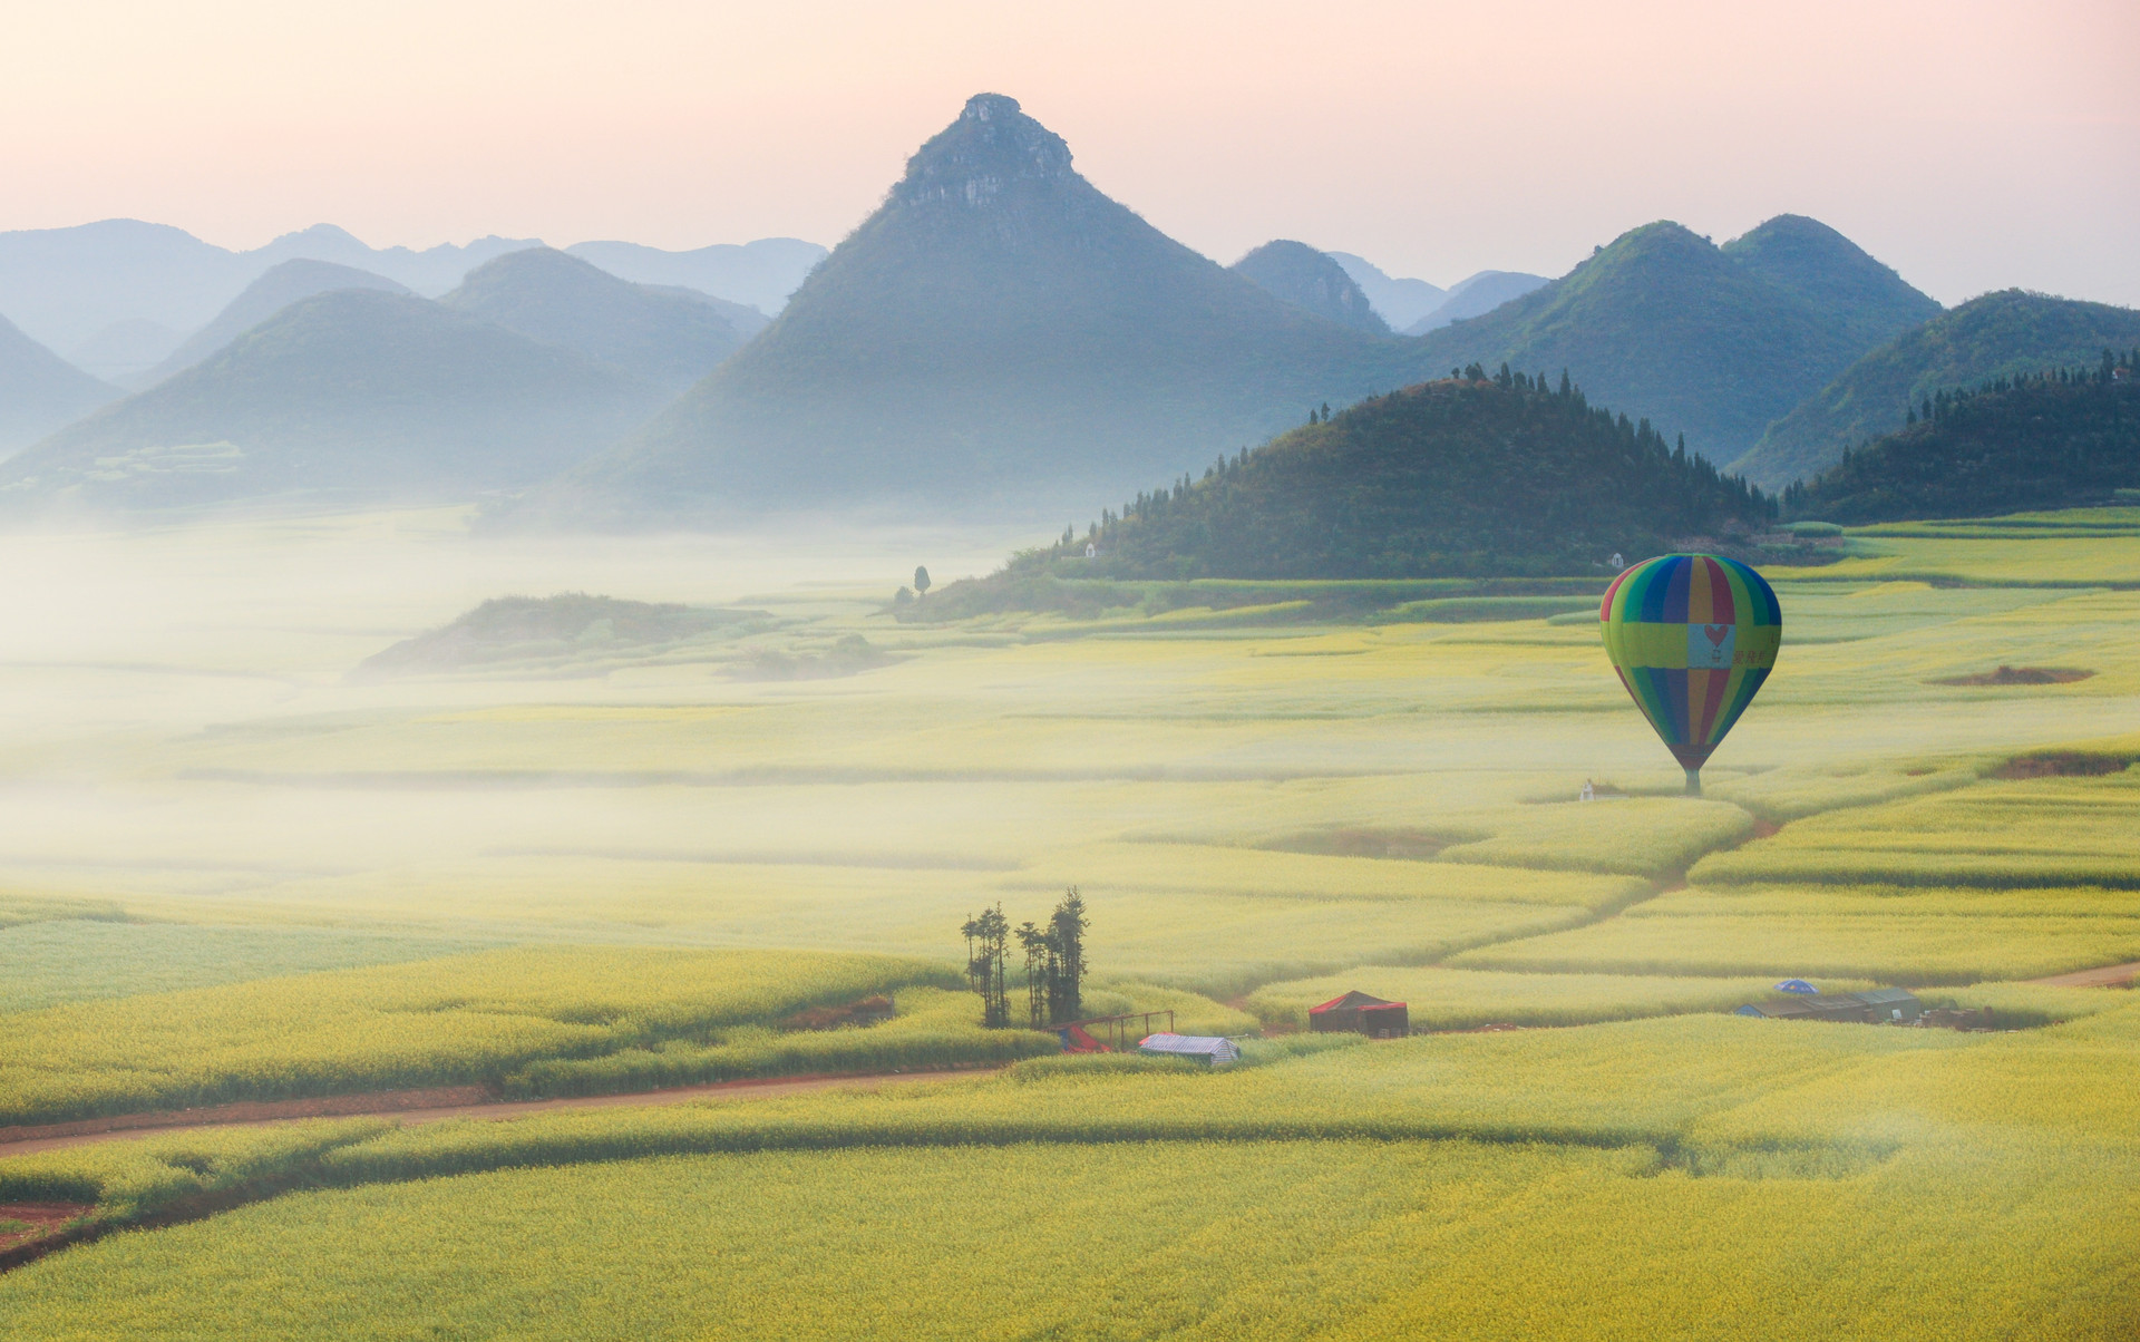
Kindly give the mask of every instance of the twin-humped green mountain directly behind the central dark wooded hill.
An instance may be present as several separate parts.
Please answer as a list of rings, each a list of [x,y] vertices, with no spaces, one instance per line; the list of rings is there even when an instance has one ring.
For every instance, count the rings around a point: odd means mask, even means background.
[[[1599,400],[1646,413],[1729,462],[1909,325],[1909,312],[1937,310],[1892,276],[1813,220],[1770,220],[1727,248],[1654,223],[1421,345],[1425,364],[1442,370],[1569,368]]]

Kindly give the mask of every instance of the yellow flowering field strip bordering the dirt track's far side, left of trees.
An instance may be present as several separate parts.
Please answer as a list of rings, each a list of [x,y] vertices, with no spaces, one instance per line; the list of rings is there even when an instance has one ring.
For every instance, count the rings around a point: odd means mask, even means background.
[[[529,946],[81,1002],[9,1019],[0,1124],[499,1083],[944,978],[867,955]]]

